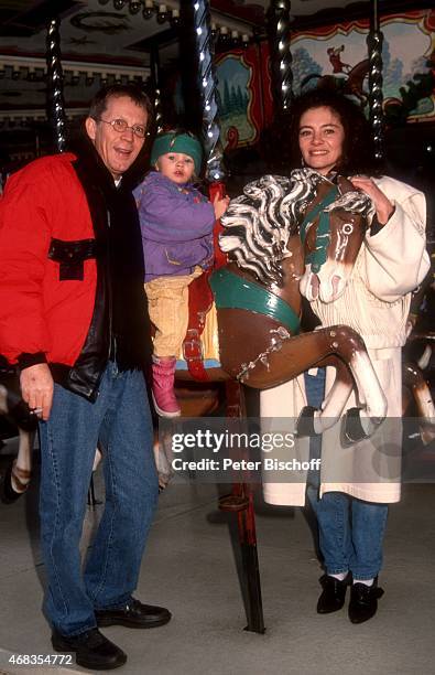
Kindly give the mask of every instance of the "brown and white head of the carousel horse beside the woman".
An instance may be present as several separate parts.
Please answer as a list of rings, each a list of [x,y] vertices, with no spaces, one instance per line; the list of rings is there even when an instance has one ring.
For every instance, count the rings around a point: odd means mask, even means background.
[[[301,225],[305,274],[301,292],[308,300],[333,302],[345,290],[361,247],[371,200],[339,176],[338,190],[325,180]]]

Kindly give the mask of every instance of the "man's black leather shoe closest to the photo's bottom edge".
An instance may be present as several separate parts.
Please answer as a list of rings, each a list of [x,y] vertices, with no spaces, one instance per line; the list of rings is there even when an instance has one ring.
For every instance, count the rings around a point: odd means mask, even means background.
[[[127,661],[127,654],[105,638],[98,629],[70,636],[62,635],[54,630],[52,644],[56,652],[75,653],[77,665],[91,671],[111,671],[119,668]]]

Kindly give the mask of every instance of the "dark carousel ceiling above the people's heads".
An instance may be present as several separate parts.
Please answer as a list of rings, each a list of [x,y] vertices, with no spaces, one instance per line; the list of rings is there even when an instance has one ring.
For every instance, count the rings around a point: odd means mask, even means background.
[[[178,58],[181,2],[188,0],[1,0],[0,122],[44,119],[45,41],[48,21],[61,19],[67,115],[86,110],[101,84],[146,79],[150,68]],[[382,10],[404,0],[379,0]],[[269,0],[211,0],[219,49],[265,35]],[[292,0],[293,26],[368,15],[370,2]],[[21,120],[21,121],[20,121]]]

